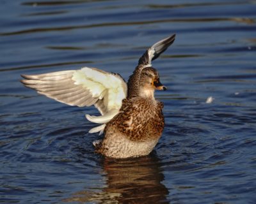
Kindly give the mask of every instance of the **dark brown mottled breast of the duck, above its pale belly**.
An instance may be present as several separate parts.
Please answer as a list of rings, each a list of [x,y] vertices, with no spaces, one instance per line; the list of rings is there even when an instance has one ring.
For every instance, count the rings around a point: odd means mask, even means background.
[[[105,130],[121,133],[129,140],[145,142],[158,139],[164,127],[163,103],[143,98],[124,99],[120,113],[108,122]]]

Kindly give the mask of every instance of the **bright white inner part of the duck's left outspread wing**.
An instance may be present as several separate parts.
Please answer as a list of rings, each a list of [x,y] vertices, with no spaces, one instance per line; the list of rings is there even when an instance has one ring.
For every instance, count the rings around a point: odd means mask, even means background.
[[[75,81],[76,85],[83,85],[83,87],[89,89],[93,98],[103,99],[106,113],[101,116],[86,114],[86,119],[91,122],[98,124],[109,122],[118,114],[122,106],[122,100],[127,96],[127,84],[119,75],[113,73],[107,73],[95,68],[82,68],[74,73],[72,80]],[[98,126],[89,132],[102,133],[105,126]]]

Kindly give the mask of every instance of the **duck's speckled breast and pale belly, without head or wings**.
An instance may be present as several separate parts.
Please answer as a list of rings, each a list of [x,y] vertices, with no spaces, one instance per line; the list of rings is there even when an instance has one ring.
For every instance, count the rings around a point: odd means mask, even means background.
[[[126,158],[149,154],[164,128],[163,103],[154,99],[124,99],[120,113],[106,124],[104,139],[96,151],[108,157]]]

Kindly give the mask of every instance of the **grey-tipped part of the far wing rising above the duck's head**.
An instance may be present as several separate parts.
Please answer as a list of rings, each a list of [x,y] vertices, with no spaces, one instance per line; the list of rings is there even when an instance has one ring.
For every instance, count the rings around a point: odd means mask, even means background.
[[[140,57],[138,65],[151,66],[151,62],[154,59],[157,59],[161,53],[172,45],[174,40],[175,34],[152,45],[152,47],[148,48],[148,50]]]

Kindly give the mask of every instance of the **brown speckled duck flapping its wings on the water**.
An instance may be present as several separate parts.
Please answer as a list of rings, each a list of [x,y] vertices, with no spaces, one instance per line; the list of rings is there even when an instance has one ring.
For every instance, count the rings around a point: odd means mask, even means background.
[[[164,105],[154,97],[154,92],[167,89],[152,61],[174,40],[172,34],[148,48],[127,83],[119,73],[89,67],[21,75],[24,79],[20,82],[38,94],[70,106],[94,105],[100,115],[85,116],[99,126],[89,133],[104,134],[93,142],[95,152],[115,159],[147,156],[164,129]]]

